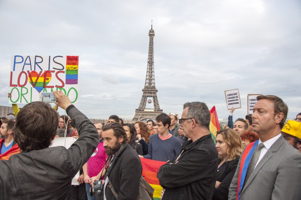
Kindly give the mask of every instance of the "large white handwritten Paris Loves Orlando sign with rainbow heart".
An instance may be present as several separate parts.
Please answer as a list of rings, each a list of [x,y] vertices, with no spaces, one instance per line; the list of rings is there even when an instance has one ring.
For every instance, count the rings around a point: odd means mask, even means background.
[[[40,92],[61,90],[77,103],[78,57],[70,55],[11,57],[9,103],[39,101]]]

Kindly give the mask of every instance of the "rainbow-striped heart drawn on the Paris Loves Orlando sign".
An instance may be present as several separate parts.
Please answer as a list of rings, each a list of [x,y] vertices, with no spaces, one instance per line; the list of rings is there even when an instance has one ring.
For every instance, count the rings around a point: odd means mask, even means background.
[[[47,71],[46,73],[40,71],[39,73],[36,71],[31,71],[28,74],[28,79],[32,87],[36,89],[39,93],[42,92],[44,87],[50,82],[51,80],[51,72]]]

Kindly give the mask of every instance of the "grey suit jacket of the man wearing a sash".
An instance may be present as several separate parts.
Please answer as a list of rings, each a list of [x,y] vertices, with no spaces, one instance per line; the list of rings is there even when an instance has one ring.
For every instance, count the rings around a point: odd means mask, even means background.
[[[240,160],[229,188],[236,199]],[[301,154],[280,136],[257,164],[240,192],[240,199],[295,200],[301,197]]]

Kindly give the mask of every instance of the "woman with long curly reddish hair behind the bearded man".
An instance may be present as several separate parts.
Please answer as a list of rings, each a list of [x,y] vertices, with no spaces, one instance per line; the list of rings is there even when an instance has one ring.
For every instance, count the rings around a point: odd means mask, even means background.
[[[148,141],[150,139],[148,128],[144,122],[136,122],[134,126],[137,132],[137,142],[142,145],[143,155],[146,155],[148,154]]]

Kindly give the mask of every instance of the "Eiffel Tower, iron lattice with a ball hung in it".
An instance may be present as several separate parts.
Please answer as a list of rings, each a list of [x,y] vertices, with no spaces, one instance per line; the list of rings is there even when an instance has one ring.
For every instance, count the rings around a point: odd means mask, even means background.
[[[151,20],[153,21],[153,20]],[[156,84],[155,84],[155,69],[154,69],[154,36],[155,31],[153,30],[153,23],[151,23],[151,29],[148,32],[150,37],[150,44],[148,47],[148,58],[147,58],[147,70],[144,89],[142,89],[142,97],[138,109],[135,111],[135,116],[132,119],[133,121],[142,121],[144,119],[155,119],[159,114],[163,113],[163,110],[160,109]],[[153,99],[154,108],[145,108],[146,102],[151,103]]]

